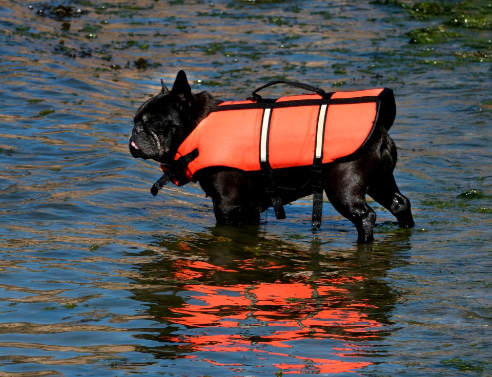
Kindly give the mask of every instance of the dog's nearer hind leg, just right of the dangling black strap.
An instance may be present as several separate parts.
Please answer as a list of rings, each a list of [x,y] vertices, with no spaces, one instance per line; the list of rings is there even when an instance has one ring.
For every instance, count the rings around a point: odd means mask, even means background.
[[[337,172],[339,169],[340,172]],[[358,174],[345,173],[343,167],[334,166],[331,169],[329,177],[324,182],[326,195],[335,210],[355,225],[358,233],[357,241],[369,242],[374,238],[376,213],[365,201],[364,178]]]

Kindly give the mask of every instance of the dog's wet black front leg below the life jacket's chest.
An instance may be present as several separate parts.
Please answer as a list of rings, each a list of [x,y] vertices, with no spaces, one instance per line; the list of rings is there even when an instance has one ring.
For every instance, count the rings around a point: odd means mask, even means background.
[[[225,171],[200,179],[203,191],[212,198],[219,224],[258,224],[260,210],[251,180],[242,172]]]

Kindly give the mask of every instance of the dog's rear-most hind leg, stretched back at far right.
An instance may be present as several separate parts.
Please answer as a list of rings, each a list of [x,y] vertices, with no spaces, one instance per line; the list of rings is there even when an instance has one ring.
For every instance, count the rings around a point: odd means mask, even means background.
[[[410,201],[400,193],[393,174],[386,174],[371,182],[367,195],[391,212],[402,228],[414,226]]]

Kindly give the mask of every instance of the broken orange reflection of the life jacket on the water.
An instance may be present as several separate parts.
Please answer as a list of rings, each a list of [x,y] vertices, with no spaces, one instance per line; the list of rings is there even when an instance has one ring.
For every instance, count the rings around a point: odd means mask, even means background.
[[[197,280],[213,271],[236,272],[195,261],[178,261],[175,267],[175,276],[182,280]],[[257,360],[274,359],[276,362],[270,365],[284,374],[350,372],[372,364],[357,360],[364,349],[374,351],[373,345],[361,347],[360,343],[379,338],[378,332],[385,325],[364,313],[374,305],[367,299],[354,299],[346,288],[357,286],[364,278],[337,276],[313,281],[296,275],[292,280],[231,286],[185,285],[179,294],[185,302],[170,308],[173,315],[163,319],[188,330],[166,340],[178,344],[186,353],[254,352]],[[306,341],[310,344],[303,347],[302,342]],[[330,358],[316,357],[309,351],[313,347],[317,354]],[[302,354],[304,348],[306,354]],[[187,358],[199,357],[188,354]],[[281,362],[283,358],[285,362]],[[199,360],[229,367],[243,365],[210,358]],[[235,361],[240,360],[238,353]]]

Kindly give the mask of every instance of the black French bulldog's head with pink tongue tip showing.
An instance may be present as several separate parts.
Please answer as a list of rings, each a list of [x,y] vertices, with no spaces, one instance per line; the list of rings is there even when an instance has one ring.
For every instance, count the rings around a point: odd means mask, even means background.
[[[168,163],[196,125],[199,101],[191,93],[183,71],[178,72],[171,91],[161,83],[160,93],[135,113],[129,148],[135,158]]]

